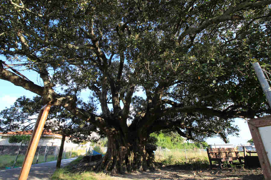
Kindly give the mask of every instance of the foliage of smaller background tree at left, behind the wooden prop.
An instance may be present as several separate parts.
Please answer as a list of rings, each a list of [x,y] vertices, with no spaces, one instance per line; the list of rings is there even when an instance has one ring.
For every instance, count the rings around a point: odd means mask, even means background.
[[[35,96],[33,99],[26,98],[25,96],[18,98],[11,107],[0,112],[0,132],[32,131],[43,103],[41,96]],[[77,101],[77,103],[84,105],[82,101]],[[88,110],[95,112],[95,104],[92,104]],[[75,143],[98,140],[98,138],[91,139],[88,136],[88,122],[81,121],[77,116],[71,114],[61,106],[51,107],[47,121],[45,122],[44,131],[52,131],[67,136]]]

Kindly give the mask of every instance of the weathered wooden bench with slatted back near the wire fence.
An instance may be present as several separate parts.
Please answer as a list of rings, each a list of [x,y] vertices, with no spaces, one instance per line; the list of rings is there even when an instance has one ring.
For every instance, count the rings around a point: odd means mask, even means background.
[[[209,162],[210,162],[210,168],[219,165],[221,169],[223,169],[222,165],[224,162],[229,162],[230,164],[236,164],[232,161],[239,160],[238,164],[244,164],[242,160],[244,160],[244,156],[240,155],[240,152],[244,151],[238,151],[237,148],[206,148]],[[216,165],[212,164],[212,161],[216,161]]]

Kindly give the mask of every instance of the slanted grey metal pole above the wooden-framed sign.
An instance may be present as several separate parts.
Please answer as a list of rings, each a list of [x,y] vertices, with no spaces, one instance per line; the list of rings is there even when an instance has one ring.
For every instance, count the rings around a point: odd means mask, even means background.
[[[269,103],[269,106],[271,107],[271,88],[266,80],[266,77],[264,76],[263,70],[258,62],[255,62],[252,65],[257,74],[258,80],[263,88],[263,92]]]

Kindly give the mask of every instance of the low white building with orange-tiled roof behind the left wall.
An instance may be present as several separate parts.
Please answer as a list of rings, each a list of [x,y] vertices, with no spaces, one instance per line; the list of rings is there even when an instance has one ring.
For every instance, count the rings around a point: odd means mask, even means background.
[[[0,145],[20,145],[20,143],[11,144],[8,142],[9,137],[14,135],[32,135],[32,131],[17,131],[17,132],[8,132],[0,133]],[[44,131],[39,140],[39,146],[60,146],[61,145],[61,134],[55,134],[51,131]],[[78,144],[72,143],[68,137],[66,137],[65,146],[67,147],[77,147]]]

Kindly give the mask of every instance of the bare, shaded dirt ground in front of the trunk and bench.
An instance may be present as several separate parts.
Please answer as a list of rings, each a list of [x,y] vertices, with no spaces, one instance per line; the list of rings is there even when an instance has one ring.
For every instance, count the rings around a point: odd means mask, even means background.
[[[101,177],[100,177],[101,178]],[[176,166],[160,168],[154,172],[133,172],[111,176],[112,180],[264,180],[261,168],[212,169],[202,171],[180,170]]]

